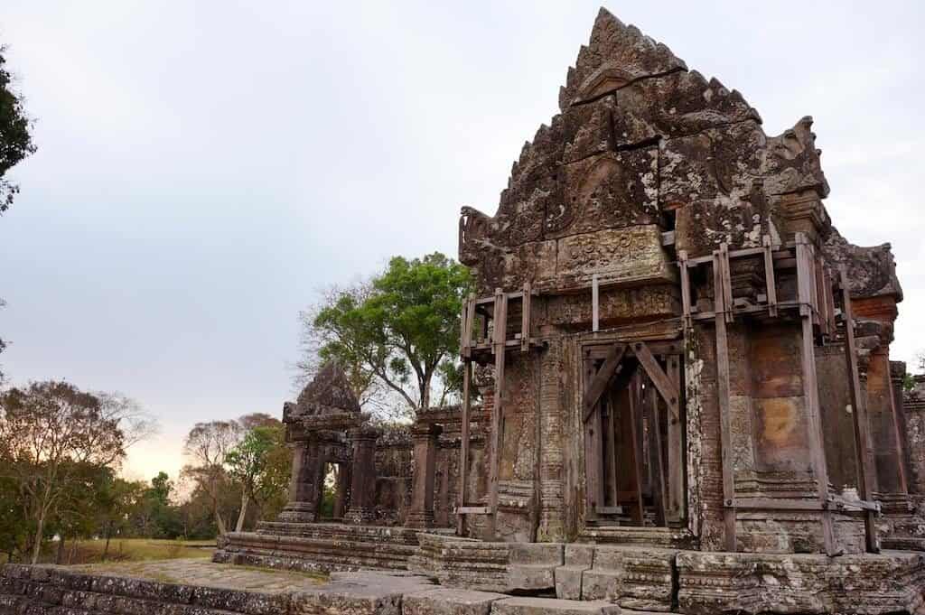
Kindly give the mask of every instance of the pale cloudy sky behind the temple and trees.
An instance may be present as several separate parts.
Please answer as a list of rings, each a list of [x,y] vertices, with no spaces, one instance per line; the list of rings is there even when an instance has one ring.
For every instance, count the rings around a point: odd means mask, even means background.
[[[599,2],[0,3],[39,152],[0,218],[12,384],[117,390],[175,476],[197,421],[279,415],[300,309],[494,214]],[[759,109],[815,118],[835,225],[891,241],[894,359],[925,349],[920,2],[607,3]]]

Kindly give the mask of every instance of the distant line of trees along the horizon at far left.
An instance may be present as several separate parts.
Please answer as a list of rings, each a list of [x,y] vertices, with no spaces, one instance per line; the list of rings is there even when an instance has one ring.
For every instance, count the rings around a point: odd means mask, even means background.
[[[0,561],[31,561],[77,540],[215,538],[273,518],[289,483],[283,425],[266,414],[196,424],[189,464],[150,482],[118,476],[126,449],[154,424],[133,400],[39,382],[0,393]]]

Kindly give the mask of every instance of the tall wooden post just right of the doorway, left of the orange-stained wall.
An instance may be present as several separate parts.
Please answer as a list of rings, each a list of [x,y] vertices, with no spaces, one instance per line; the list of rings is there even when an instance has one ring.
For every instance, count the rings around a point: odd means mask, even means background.
[[[729,342],[726,337],[726,310],[722,290],[721,252],[713,252],[713,295],[716,313],[716,386],[720,405],[720,440],[722,454],[722,506],[725,522],[726,550],[735,551],[735,475],[733,474],[733,438],[729,408]]]

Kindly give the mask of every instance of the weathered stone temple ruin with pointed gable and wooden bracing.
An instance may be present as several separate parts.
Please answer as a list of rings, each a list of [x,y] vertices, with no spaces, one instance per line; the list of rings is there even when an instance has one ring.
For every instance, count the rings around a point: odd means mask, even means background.
[[[462,210],[461,406],[383,432],[327,365],[284,411],[289,507],[216,561],[431,584],[362,612],[921,612],[925,381],[812,119],[766,135],[604,9],[559,101]]]

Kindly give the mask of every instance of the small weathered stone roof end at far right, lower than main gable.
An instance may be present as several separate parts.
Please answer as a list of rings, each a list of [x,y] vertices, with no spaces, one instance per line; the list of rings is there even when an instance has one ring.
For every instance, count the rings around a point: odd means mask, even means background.
[[[892,246],[856,246],[845,240],[837,228],[826,240],[825,254],[835,264],[845,264],[851,296],[857,299],[893,295],[903,301],[903,289],[896,277]]]

